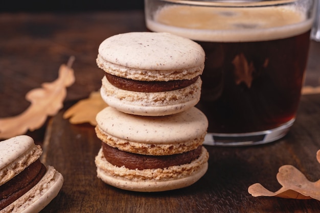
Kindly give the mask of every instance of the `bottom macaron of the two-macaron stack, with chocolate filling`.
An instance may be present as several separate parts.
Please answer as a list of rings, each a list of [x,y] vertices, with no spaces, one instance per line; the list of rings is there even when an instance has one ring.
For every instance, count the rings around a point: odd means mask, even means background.
[[[195,107],[165,116],[140,116],[106,107],[97,114],[102,141],[97,176],[105,183],[136,192],[187,187],[208,170],[202,146],[208,120]]]

